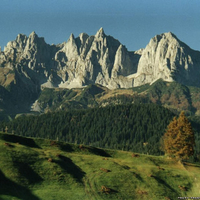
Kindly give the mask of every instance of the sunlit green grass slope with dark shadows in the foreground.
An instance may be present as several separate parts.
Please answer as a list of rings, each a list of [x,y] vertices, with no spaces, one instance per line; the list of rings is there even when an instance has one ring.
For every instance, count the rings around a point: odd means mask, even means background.
[[[0,199],[200,197],[200,165],[0,133]]]

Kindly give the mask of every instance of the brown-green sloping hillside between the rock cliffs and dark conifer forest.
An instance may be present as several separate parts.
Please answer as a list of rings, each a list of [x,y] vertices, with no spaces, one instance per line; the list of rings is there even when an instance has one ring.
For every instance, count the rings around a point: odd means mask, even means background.
[[[158,80],[152,85],[129,89],[109,90],[101,85],[89,85],[82,89],[45,88],[33,104],[39,112],[71,110],[127,103],[156,103],[177,113],[184,110],[200,115],[200,89],[177,82]]]

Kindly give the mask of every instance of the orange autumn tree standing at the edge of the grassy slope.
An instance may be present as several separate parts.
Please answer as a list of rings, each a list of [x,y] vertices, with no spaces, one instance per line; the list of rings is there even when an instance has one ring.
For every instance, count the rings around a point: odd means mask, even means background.
[[[170,122],[163,140],[164,151],[170,157],[189,159],[194,154],[194,131],[184,112]]]

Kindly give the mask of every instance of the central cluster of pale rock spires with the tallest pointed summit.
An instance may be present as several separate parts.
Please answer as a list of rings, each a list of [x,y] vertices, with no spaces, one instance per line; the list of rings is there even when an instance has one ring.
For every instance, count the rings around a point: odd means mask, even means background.
[[[134,59],[137,59],[134,53],[130,54],[102,28],[95,36],[82,33],[75,39],[71,35],[55,56],[62,74],[59,87],[81,87],[90,83],[109,88],[132,87],[133,80],[125,76],[128,72],[136,72]]]

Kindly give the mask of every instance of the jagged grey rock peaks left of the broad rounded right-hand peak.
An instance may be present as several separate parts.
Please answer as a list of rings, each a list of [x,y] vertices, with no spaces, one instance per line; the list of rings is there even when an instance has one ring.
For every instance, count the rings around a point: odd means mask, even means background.
[[[126,76],[137,71],[140,55],[128,52],[101,28],[67,42],[48,45],[35,32],[19,34],[0,53],[0,64],[15,70],[32,87],[82,87],[99,83],[109,88],[133,87]],[[27,80],[25,80],[27,79]]]

